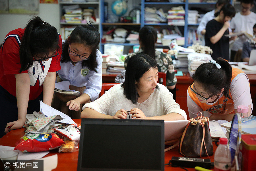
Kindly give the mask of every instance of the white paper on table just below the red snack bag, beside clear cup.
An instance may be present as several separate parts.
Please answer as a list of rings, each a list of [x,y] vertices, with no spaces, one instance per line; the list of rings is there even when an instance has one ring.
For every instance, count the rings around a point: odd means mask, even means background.
[[[0,151],[4,151],[4,150],[14,150],[14,147],[0,145]],[[36,160],[44,157],[46,154],[49,153],[49,151],[29,152],[29,153],[24,153],[24,152],[21,152],[20,150],[15,150],[15,151],[19,153],[18,160]]]

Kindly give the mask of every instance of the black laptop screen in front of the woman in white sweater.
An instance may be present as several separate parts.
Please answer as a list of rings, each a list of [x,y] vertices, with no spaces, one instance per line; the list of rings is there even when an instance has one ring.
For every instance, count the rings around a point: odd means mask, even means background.
[[[82,119],[78,171],[164,171],[164,121]]]

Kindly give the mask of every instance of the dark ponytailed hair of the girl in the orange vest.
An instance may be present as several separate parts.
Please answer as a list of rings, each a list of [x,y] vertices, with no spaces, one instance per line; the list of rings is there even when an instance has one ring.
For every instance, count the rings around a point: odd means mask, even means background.
[[[217,58],[216,63],[220,64],[220,69],[215,64],[207,62],[201,64],[191,78],[195,82],[198,82],[209,96],[220,93],[221,89],[224,88],[223,95],[231,99],[229,89],[232,78],[232,67],[221,57]]]

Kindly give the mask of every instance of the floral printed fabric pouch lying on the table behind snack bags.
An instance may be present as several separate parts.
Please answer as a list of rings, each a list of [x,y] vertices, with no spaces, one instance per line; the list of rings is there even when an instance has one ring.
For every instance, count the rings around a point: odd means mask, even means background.
[[[28,133],[29,131],[36,131],[52,133],[54,132],[53,128],[61,127],[61,124],[55,124],[61,120],[62,118],[60,115],[37,118],[27,124],[27,130],[25,132]]]

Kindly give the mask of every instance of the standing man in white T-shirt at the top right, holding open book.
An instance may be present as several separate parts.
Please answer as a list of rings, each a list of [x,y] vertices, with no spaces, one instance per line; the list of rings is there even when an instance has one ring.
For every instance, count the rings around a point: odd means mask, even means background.
[[[253,0],[241,0],[241,11],[236,13],[235,17],[230,22],[230,27],[233,32],[245,31],[253,35],[253,25],[256,23],[256,14],[250,10],[253,8]],[[234,61],[236,53],[243,48],[243,43],[247,39],[245,36],[239,36],[239,39],[234,42],[230,51],[230,61]]]

